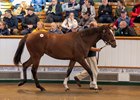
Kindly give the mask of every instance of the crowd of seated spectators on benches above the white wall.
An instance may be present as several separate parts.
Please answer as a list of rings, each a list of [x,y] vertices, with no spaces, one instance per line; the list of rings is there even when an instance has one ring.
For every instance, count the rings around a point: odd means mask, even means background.
[[[13,0],[12,0],[13,1]],[[62,28],[59,33],[76,32],[89,28],[92,22],[114,23],[113,28],[116,36],[134,36],[133,23],[140,23],[140,4],[136,4],[132,9],[131,17],[128,16],[128,8],[123,0],[116,0],[117,8],[113,14],[110,0],[101,0],[101,5],[96,15],[94,0],[51,0],[46,11],[46,20],[43,23],[51,23],[52,28],[58,27],[55,22],[61,22]],[[113,1],[114,2],[114,1]],[[20,4],[13,5],[7,9],[0,21],[1,35],[25,35],[37,28],[40,22],[36,12],[42,11],[46,0],[30,0],[30,5],[25,0]],[[63,14],[65,12],[65,15]],[[18,23],[22,23],[22,30],[19,30]],[[55,26],[56,25],[56,26]],[[56,33],[57,31],[49,30]]]

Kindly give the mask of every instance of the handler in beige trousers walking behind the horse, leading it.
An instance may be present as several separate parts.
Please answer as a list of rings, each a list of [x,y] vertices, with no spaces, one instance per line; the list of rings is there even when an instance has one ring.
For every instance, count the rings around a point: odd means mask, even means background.
[[[93,27],[96,28],[98,26],[96,21],[91,22],[90,25],[92,28]],[[93,73],[93,83],[90,82],[89,87],[90,87],[90,89],[93,89],[93,90],[101,90],[101,88],[98,87],[98,85],[97,85],[98,67],[97,67],[97,59],[96,59],[96,51],[100,51],[101,48],[95,48],[95,47],[96,47],[96,45],[94,45],[93,47],[90,48],[88,57],[86,58],[86,61]],[[77,85],[79,87],[81,87],[80,81],[82,79],[86,78],[88,75],[89,74],[87,73],[86,70],[83,70],[82,72],[75,75],[74,79],[76,80]]]

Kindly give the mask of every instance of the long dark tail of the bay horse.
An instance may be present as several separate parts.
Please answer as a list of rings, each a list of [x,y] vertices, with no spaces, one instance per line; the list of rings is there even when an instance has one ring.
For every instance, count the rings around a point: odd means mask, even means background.
[[[17,48],[17,51],[16,51],[15,56],[14,56],[14,59],[13,59],[14,64],[17,65],[17,66],[19,65],[19,62],[20,62],[20,59],[21,59],[21,55],[22,55],[22,52],[23,52],[23,49],[24,49],[24,45],[25,45],[27,36],[28,35],[25,35],[20,40],[19,45],[18,45],[18,48]]]

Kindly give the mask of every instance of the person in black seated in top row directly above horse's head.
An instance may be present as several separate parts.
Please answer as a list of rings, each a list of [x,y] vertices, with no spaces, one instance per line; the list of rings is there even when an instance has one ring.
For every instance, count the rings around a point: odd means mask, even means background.
[[[102,5],[99,6],[98,15],[100,23],[111,23],[113,21],[112,7],[108,4],[108,0],[102,0]]]

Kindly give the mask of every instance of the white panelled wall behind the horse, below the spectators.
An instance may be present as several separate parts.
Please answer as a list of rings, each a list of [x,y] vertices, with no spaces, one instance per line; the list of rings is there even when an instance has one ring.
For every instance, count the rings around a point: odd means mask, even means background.
[[[0,65],[13,65],[13,57],[20,39],[0,39]],[[98,47],[104,46],[102,41]],[[27,49],[22,54],[22,62],[29,58]],[[117,40],[117,47],[106,46],[101,50],[99,66],[140,67],[140,40]],[[68,65],[68,60],[57,60],[47,55],[41,59],[41,65]]]

